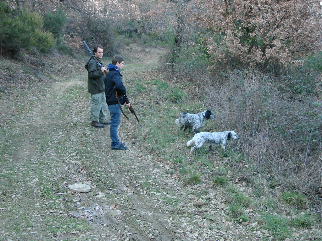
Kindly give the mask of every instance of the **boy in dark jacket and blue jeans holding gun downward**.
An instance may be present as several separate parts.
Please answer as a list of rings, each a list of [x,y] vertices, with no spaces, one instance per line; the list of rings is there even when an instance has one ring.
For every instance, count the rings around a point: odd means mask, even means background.
[[[123,56],[115,55],[112,58],[112,63],[107,67],[109,73],[106,75],[104,80],[106,103],[108,105],[109,114],[111,116],[110,137],[112,150],[128,149],[128,147],[125,146],[125,143],[119,142],[118,139],[118,125],[121,118],[121,109],[118,106],[118,100],[115,97],[115,92],[117,91],[117,96],[120,104],[125,104],[126,107],[130,107],[130,103],[125,103],[125,100],[123,98],[123,96],[126,94],[126,88],[123,85],[121,75],[121,68],[123,68],[124,66],[123,63]]]

